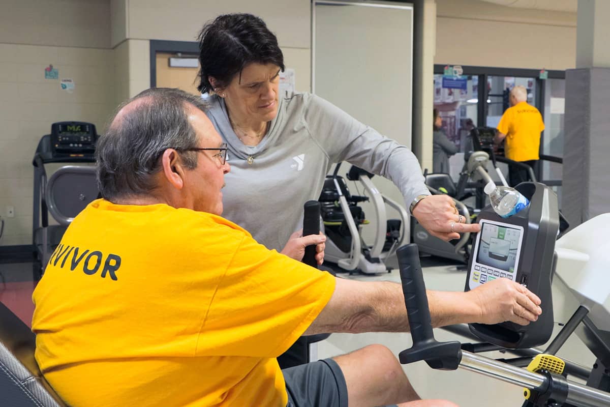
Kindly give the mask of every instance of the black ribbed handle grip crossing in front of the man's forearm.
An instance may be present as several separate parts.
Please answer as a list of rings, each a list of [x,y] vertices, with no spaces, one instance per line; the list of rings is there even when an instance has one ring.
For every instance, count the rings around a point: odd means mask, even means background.
[[[396,255],[413,344],[427,342],[434,339],[434,335],[417,245],[415,243],[404,245],[398,248]]]

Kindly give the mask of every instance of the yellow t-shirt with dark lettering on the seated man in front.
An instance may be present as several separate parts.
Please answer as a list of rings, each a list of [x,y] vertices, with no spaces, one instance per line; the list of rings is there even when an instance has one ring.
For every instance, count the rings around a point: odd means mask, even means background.
[[[274,358],[333,291],[224,218],[96,200],[32,296],[35,356],[74,406],[284,407]]]

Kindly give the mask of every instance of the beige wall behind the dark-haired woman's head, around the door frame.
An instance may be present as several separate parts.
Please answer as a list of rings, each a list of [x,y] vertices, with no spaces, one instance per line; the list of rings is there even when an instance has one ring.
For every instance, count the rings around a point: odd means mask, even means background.
[[[249,12],[260,16],[277,37],[287,68],[295,70],[296,89],[309,91],[311,87],[310,57],[310,4],[303,0],[244,0],[201,1],[201,0],[112,0],[112,43],[117,45],[124,38],[130,40],[172,40],[196,41],[197,35],[206,21],[222,13]],[[124,10],[121,10],[121,7]],[[115,21],[126,16],[124,38]],[[134,54],[130,60],[132,82],[130,94],[144,90],[150,82],[138,80],[149,77],[149,56],[145,52]],[[135,65],[132,63],[135,62]]]

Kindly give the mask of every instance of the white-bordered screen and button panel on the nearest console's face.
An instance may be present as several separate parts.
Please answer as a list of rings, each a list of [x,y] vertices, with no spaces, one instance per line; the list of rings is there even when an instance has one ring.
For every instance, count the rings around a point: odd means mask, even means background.
[[[482,219],[479,225],[468,287],[472,290],[501,277],[518,281],[523,226],[489,219]]]

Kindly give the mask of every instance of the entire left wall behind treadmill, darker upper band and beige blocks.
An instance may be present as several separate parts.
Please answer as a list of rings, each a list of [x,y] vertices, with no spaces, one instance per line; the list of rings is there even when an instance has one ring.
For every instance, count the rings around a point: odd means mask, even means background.
[[[49,64],[58,79],[45,79]],[[63,120],[102,132],[117,103],[116,77],[109,0],[0,0],[0,245],[32,242],[32,157],[40,138]],[[72,93],[61,79],[74,81]],[[15,217],[6,216],[7,206]]]

